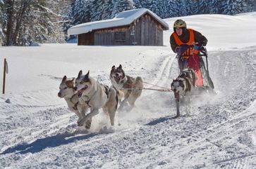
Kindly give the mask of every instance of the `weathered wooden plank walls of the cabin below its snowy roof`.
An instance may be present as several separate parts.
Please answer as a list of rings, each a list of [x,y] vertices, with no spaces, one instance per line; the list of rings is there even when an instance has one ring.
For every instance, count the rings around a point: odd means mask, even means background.
[[[116,39],[120,37],[118,34],[125,34],[125,39]],[[78,45],[80,44],[163,46],[163,29],[157,20],[146,13],[130,26],[99,29],[92,33],[80,34]]]

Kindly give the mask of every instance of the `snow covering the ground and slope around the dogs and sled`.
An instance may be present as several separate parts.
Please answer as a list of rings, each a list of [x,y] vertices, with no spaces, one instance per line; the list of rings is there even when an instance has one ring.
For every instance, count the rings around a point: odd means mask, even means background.
[[[165,21],[172,27],[176,19]],[[181,107],[178,119],[173,93],[144,90],[135,109],[118,112],[121,126],[111,127],[100,111],[85,130],[57,97],[64,75],[90,69],[110,85],[110,69],[119,64],[130,76],[169,88],[178,75],[171,30],[164,32],[165,46],[0,47],[8,62],[6,94],[0,95],[0,168],[256,168],[255,13],[182,19],[209,40],[218,94],[193,97],[191,115]]]

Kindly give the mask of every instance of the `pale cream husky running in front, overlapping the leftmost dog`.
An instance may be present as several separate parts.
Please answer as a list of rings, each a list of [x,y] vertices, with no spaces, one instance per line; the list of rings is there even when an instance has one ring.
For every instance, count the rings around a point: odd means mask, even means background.
[[[86,121],[99,114],[99,109],[101,108],[105,113],[109,114],[111,126],[114,126],[118,105],[118,91],[114,88],[103,86],[89,74],[90,71],[83,75],[82,70],[80,70],[75,80],[75,90],[78,93],[79,103],[87,104],[90,107],[90,113],[78,121],[78,126],[83,126]]]

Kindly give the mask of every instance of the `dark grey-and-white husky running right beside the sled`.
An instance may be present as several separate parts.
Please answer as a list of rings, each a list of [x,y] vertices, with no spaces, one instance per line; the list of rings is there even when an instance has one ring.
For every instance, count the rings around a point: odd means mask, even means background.
[[[180,96],[185,97],[187,115],[189,115],[191,104],[191,92],[195,89],[195,81],[197,76],[193,69],[183,69],[171,83],[171,90],[173,90],[176,102],[176,117],[180,116]]]

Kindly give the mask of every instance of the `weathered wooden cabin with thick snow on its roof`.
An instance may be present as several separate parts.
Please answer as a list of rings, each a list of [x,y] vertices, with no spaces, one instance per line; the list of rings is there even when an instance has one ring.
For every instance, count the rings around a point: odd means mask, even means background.
[[[139,8],[123,11],[111,20],[75,25],[68,34],[78,35],[78,45],[163,46],[163,31],[168,29],[152,11]]]

